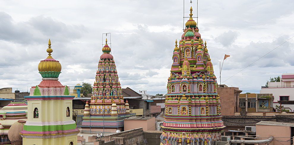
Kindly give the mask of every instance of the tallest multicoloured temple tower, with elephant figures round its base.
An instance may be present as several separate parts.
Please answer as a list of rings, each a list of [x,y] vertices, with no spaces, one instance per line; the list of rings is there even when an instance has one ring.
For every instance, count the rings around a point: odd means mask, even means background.
[[[225,128],[221,118],[217,83],[206,42],[197,23],[186,22],[184,34],[173,50],[173,64],[167,82],[165,120],[161,144],[206,145],[220,140]]]

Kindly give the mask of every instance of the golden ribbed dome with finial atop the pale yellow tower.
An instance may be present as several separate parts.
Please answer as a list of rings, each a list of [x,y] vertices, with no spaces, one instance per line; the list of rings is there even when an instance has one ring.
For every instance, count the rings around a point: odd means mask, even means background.
[[[53,50],[51,49],[51,41],[49,39],[48,42],[48,57],[44,60],[41,60],[41,62],[38,65],[38,70],[39,73],[41,73],[42,77],[44,78],[58,78],[58,75],[61,72],[61,64],[59,63],[59,61],[53,59],[53,57],[51,57],[51,53],[53,52]],[[47,73],[42,73],[42,72],[47,72]],[[48,72],[50,74],[48,74]]]

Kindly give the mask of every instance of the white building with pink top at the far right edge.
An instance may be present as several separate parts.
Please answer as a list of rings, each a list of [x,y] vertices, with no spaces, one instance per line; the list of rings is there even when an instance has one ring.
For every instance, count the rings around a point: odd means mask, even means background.
[[[261,86],[260,94],[273,94],[275,108],[278,101],[294,100],[294,73],[283,73],[280,82],[268,82],[268,87]],[[283,105],[284,109],[294,111],[294,105]]]

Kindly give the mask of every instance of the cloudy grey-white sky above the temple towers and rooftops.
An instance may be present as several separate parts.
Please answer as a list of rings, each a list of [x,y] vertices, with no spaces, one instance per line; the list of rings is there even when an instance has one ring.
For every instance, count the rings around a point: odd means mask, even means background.
[[[186,0],[186,17],[190,6]],[[198,2],[198,28],[218,83],[225,54],[231,57],[224,62],[222,82],[244,93],[259,93],[270,77],[294,73],[293,38],[228,79],[294,36],[293,7],[291,0]],[[52,57],[62,65],[59,81],[93,84],[102,33],[111,33],[122,87],[165,94],[174,42],[183,33],[182,17],[180,0],[0,0],[0,88],[26,91],[39,84],[37,65],[48,56],[49,38]]]

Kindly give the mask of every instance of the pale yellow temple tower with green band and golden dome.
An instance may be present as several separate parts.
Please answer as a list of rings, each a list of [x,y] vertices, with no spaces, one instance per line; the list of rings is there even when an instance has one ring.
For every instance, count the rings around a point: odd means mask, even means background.
[[[80,132],[72,120],[72,99],[69,88],[58,81],[61,64],[51,56],[51,42],[48,42],[48,57],[38,65],[42,81],[30,89],[28,100],[28,121],[20,132],[23,144],[77,145]]]

